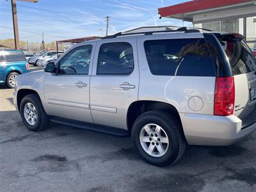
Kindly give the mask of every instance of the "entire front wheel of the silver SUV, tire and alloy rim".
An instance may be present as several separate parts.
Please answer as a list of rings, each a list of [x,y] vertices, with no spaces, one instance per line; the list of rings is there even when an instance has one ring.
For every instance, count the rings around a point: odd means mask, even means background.
[[[42,131],[49,126],[50,120],[36,94],[26,95],[20,102],[20,116],[30,131]]]

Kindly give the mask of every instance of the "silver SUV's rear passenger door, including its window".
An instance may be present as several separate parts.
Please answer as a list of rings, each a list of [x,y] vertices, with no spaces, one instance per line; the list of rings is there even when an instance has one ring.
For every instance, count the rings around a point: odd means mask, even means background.
[[[90,103],[96,124],[127,129],[127,109],[138,100],[136,39],[102,40],[96,48],[90,84]],[[113,42],[115,41],[115,42]]]

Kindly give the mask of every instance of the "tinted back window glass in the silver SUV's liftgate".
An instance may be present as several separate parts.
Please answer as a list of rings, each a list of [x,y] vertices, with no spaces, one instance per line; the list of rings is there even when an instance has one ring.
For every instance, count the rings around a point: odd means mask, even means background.
[[[256,70],[255,57],[245,42],[221,41],[221,45],[227,54],[233,76]]]

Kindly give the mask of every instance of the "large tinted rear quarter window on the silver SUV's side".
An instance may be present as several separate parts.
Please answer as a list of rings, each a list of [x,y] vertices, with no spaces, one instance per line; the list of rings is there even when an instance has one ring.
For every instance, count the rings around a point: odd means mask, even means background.
[[[148,65],[157,76],[215,76],[204,38],[147,40],[144,42]]]

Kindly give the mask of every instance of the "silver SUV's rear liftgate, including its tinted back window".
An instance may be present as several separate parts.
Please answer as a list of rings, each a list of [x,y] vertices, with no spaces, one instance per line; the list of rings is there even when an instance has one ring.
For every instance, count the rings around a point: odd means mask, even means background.
[[[242,127],[255,122],[256,116],[256,60],[242,41],[221,41],[235,81],[234,115],[242,120]]]

